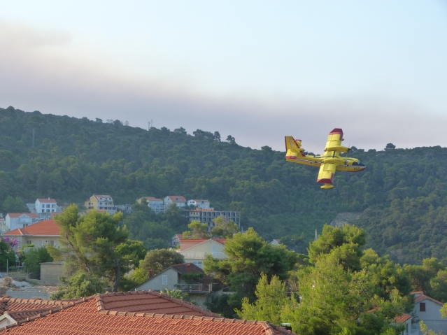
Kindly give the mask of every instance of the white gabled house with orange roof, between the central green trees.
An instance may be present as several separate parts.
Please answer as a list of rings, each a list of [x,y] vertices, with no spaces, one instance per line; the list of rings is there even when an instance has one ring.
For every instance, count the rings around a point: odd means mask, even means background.
[[[227,255],[223,252],[225,241],[227,241],[225,238],[184,238],[180,240],[180,250],[178,252],[185,257],[185,262],[204,269],[204,259],[207,255],[217,259],[227,258]]]

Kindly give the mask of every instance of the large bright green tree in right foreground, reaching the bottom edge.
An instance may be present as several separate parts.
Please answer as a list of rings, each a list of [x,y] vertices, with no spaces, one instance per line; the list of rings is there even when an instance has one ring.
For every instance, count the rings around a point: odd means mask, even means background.
[[[300,271],[300,304],[286,304],[281,318],[304,335],[397,334],[392,320],[404,311],[402,299],[393,292],[392,301],[384,301],[374,291],[366,271],[346,271],[333,252],[322,254]]]

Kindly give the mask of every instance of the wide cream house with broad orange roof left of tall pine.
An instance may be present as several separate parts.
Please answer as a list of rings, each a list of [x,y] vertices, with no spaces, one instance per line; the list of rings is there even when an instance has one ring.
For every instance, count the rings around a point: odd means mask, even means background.
[[[55,220],[44,220],[31,224],[27,227],[7,231],[3,236],[14,237],[19,242],[15,250],[22,248],[25,244],[34,244],[36,247],[53,245],[59,247],[60,231]]]

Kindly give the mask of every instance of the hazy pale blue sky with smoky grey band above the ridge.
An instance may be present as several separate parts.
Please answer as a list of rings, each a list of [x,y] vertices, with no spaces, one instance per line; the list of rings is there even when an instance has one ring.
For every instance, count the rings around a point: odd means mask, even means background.
[[[1,1],[0,107],[283,150],[447,146],[447,1]]]

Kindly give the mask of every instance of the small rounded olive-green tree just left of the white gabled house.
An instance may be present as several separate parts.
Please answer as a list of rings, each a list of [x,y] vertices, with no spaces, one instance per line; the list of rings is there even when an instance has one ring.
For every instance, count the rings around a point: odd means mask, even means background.
[[[154,275],[169,268],[171,265],[182,264],[185,262],[183,255],[176,250],[171,249],[155,249],[150,250],[146,257],[140,261],[139,269],[144,271],[146,279],[149,278],[149,271],[152,270]]]

